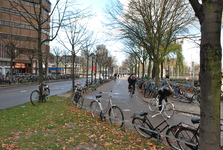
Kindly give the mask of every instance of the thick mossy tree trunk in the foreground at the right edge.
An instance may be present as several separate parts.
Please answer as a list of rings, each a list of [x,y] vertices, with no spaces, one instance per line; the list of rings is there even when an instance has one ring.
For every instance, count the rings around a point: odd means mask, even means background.
[[[218,3],[219,2],[219,3]],[[199,148],[220,149],[220,92],[221,92],[221,1],[190,0],[201,24],[200,85],[201,123]],[[211,137],[211,138],[210,138]]]

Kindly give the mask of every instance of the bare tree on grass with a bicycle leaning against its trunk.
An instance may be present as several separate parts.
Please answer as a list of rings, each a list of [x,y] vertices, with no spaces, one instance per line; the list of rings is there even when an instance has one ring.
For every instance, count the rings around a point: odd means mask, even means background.
[[[39,62],[39,83],[41,83],[40,94],[43,89],[43,59],[42,59],[42,47],[43,44],[49,41],[52,41],[58,35],[61,24],[64,20],[65,11],[68,7],[68,1],[65,1],[65,4],[59,5],[60,0],[56,1],[55,6],[51,8],[51,3],[44,0],[29,1],[33,9],[30,11],[30,7],[26,7],[26,3],[23,0],[11,0],[10,5],[13,9],[17,11],[23,18],[23,22],[27,23],[30,28],[34,29],[37,33],[37,50],[38,50],[38,62]],[[61,7],[59,7],[61,6]],[[49,36],[50,32],[50,17],[57,10],[58,20],[55,34],[52,33],[52,37]],[[62,11],[62,12],[61,12]],[[48,12],[48,13],[45,13]],[[49,51],[49,49],[48,49]]]

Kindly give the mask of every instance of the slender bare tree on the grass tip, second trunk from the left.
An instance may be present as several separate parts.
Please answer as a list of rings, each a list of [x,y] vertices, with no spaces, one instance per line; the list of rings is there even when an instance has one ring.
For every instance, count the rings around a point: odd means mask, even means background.
[[[58,42],[68,51],[71,52],[72,60],[72,89],[74,91],[75,85],[75,72],[74,72],[74,62],[76,55],[81,49],[84,48],[84,42],[86,41],[87,33],[87,22],[84,20],[91,14],[88,9],[84,10],[73,10],[69,11],[69,18],[63,23],[63,32],[65,32],[65,40],[58,38]]]

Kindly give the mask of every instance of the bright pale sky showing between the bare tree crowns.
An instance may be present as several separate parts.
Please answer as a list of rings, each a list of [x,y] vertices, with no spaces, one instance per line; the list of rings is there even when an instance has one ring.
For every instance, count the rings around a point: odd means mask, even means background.
[[[51,0],[52,4],[56,0]],[[121,2],[127,1],[127,0],[120,0]],[[107,36],[105,33],[103,33],[103,25],[101,24],[101,21],[104,19],[103,18],[103,8],[105,8],[105,5],[109,2],[109,0],[79,0],[79,4],[82,4],[83,7],[88,7],[91,6],[92,10],[95,14],[95,17],[90,20],[90,26],[92,29],[95,31],[99,32],[98,34],[102,34],[101,36]],[[100,35],[98,35],[100,37]],[[105,42],[103,41],[100,44],[104,44],[106,48],[110,51],[112,55],[118,56],[119,63],[125,59],[123,57],[124,55],[120,53],[121,49],[120,47],[122,46],[120,43],[114,43],[114,42]],[[185,57],[185,62],[187,65],[191,65],[192,61],[195,61],[195,63],[200,62],[200,50],[194,42],[184,40],[184,43],[182,45],[183,47],[183,55]],[[114,52],[116,51],[116,52]],[[117,53],[119,51],[119,54]]]

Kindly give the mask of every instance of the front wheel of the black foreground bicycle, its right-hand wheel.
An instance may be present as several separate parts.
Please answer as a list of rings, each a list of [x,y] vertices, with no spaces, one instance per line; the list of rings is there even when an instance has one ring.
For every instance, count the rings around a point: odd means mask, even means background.
[[[170,145],[170,147],[173,147],[174,149],[177,149],[177,150],[180,150],[180,146],[177,140],[174,140],[171,137],[176,138],[176,133],[179,129],[180,129],[180,126],[173,125],[166,131],[166,135],[170,136],[170,137],[166,137],[167,143]]]

